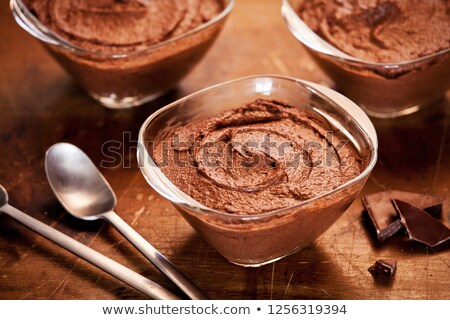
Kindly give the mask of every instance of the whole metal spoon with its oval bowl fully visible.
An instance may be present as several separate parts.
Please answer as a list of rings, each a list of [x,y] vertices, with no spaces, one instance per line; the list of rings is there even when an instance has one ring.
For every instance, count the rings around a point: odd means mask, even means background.
[[[70,214],[79,219],[110,222],[191,299],[207,299],[165,256],[113,211],[116,206],[114,192],[82,150],[69,143],[53,145],[45,156],[45,170],[53,192]]]

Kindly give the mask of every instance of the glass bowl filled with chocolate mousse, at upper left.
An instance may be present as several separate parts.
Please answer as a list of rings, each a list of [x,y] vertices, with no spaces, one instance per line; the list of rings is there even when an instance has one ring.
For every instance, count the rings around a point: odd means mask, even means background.
[[[16,22],[101,104],[174,89],[220,33],[234,0],[10,0]]]

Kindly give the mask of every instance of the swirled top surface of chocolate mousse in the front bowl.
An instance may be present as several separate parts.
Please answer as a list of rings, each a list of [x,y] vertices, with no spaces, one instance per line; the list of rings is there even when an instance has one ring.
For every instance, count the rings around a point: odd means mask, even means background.
[[[183,192],[222,212],[286,208],[360,174],[354,147],[306,110],[258,99],[163,132],[153,158]]]

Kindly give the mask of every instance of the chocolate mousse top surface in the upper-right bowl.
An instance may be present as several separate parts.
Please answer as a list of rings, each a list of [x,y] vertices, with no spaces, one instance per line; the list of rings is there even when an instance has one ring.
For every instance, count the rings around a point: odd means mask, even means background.
[[[448,0],[306,0],[302,20],[341,51],[400,62],[450,47]]]

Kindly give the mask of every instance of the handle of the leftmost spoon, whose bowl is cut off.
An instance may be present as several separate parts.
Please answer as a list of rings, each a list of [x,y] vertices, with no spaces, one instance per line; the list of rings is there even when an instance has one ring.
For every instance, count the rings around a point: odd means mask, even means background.
[[[179,299],[173,293],[167,291],[160,285],[152,282],[151,280],[141,276],[140,274],[128,269],[127,267],[117,263],[114,260],[102,255],[101,253],[85,246],[81,242],[59,232],[56,229],[36,220],[26,213],[17,210],[16,208],[10,206],[9,204],[4,205],[0,208],[1,212],[6,213],[10,217],[19,221],[26,227],[35,231],[36,233],[44,236],[45,238],[53,241],[54,243],[60,245],[64,249],[74,253],[80,258],[92,263],[96,267],[106,271],[107,273],[113,275],[119,280],[128,283],[137,290],[147,294],[154,299],[163,300],[177,300]]]

